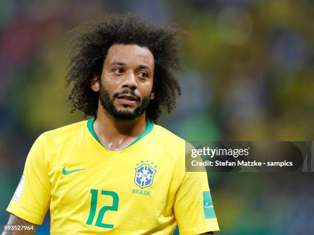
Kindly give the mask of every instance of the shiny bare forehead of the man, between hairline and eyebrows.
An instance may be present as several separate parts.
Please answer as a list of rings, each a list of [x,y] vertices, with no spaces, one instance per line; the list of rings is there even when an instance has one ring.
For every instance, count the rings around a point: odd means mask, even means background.
[[[113,44],[108,50],[105,64],[112,62],[153,66],[154,56],[147,47],[134,44]]]

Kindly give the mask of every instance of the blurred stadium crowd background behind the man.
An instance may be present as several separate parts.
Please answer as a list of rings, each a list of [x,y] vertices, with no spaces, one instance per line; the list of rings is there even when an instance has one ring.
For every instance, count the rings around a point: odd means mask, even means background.
[[[26,1],[0,5],[0,224],[37,136],[65,104],[68,30],[108,13],[178,23],[183,95],[159,124],[191,141],[314,140],[314,1]],[[210,173],[219,234],[313,234],[311,173]],[[36,234],[49,233],[49,213]]]

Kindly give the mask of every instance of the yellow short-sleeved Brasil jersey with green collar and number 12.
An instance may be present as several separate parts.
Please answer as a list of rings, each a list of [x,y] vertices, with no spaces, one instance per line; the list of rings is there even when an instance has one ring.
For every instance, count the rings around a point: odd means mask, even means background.
[[[147,122],[121,151],[97,139],[94,119],[34,142],[7,208],[51,234],[180,234],[218,231],[206,172],[185,171],[185,141]]]

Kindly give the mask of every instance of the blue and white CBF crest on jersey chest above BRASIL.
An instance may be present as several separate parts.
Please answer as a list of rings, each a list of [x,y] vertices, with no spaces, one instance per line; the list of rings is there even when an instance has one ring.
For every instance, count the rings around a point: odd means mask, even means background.
[[[155,166],[156,168],[156,166]],[[142,164],[135,168],[134,182],[139,187],[147,188],[152,185],[156,170],[149,164]]]

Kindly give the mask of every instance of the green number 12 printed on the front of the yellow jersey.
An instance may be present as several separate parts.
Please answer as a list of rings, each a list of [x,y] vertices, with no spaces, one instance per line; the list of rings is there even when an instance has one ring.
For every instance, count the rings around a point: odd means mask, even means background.
[[[90,193],[92,194],[91,195],[91,202],[90,202],[90,211],[89,211],[89,216],[88,216],[88,219],[86,222],[86,224],[89,224],[89,225],[91,225],[93,223],[93,220],[95,217],[96,207],[97,207],[98,189],[91,189]],[[112,197],[112,199],[113,199],[112,206],[103,206],[99,210],[95,226],[102,227],[102,228],[113,228],[113,224],[104,224],[103,218],[104,218],[105,212],[107,210],[117,211],[118,204],[119,204],[119,196],[114,191],[106,191],[106,190],[102,190],[102,195],[109,195]]]

